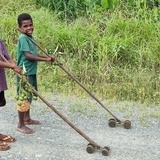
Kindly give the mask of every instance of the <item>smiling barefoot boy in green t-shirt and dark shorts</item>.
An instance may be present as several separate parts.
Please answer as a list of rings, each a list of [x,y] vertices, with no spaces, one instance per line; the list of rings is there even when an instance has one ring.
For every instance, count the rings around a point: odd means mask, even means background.
[[[27,36],[34,40],[32,33],[34,30],[32,17],[27,13],[22,13],[18,16],[18,26],[21,30],[21,35],[18,39],[17,44],[17,65],[23,69],[25,67],[26,73],[25,75],[28,78],[29,83],[37,90],[37,61],[45,61],[45,62],[53,62],[53,57],[40,56],[37,53],[37,48],[34,43],[32,43]],[[18,82],[20,78],[17,78]],[[17,87],[17,91],[19,89]],[[31,103],[32,98],[28,99]],[[39,121],[33,120],[30,118],[30,109],[26,112],[22,112],[18,110],[19,123],[17,126],[17,130],[25,133],[32,134],[35,131],[27,127],[26,125],[37,125],[40,124]]]

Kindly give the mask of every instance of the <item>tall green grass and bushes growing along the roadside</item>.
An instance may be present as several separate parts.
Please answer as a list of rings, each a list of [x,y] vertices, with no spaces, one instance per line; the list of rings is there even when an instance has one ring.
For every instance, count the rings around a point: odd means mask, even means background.
[[[0,37],[12,58],[16,60],[17,16],[27,12],[33,17],[37,43],[49,54],[59,45],[65,55],[58,60],[92,93],[159,104],[159,7],[144,0],[52,2],[0,0]],[[13,72],[7,70],[7,76],[12,87]],[[56,65],[40,62],[38,83],[43,92],[86,96]]]

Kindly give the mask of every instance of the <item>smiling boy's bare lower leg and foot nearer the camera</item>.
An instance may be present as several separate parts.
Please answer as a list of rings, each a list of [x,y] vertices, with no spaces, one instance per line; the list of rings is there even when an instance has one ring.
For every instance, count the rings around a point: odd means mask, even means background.
[[[19,123],[18,123],[18,126],[17,126],[17,130],[22,132],[22,133],[25,133],[25,134],[32,134],[35,131],[28,128],[27,126],[25,126],[24,115],[25,115],[25,112],[18,111]]]

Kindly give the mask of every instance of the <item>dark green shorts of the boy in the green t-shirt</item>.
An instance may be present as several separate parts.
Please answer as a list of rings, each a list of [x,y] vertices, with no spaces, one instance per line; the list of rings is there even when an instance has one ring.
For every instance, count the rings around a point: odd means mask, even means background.
[[[38,88],[37,88],[37,75],[36,74],[27,75],[26,77],[28,79],[28,82],[35,88],[35,90],[38,90]],[[20,78],[19,77],[17,77],[17,82],[18,83],[20,82]],[[19,93],[19,85],[17,87],[17,93]],[[32,102],[32,98],[29,98],[28,101],[31,103]]]

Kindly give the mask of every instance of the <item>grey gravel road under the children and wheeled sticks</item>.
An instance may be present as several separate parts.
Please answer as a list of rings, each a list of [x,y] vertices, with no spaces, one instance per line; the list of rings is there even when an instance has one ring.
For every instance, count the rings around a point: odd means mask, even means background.
[[[6,107],[0,108],[0,130],[11,134],[17,141],[11,149],[0,152],[0,160],[159,160],[160,121],[148,118],[147,112],[159,109],[140,104],[103,101],[118,118],[128,118],[130,129],[108,126],[111,116],[93,99],[79,99],[62,95],[46,95],[48,102],[100,146],[110,147],[108,156],[100,151],[86,152],[88,142],[67,125],[41,100],[33,102],[31,115],[42,122],[30,126],[36,132],[25,135],[15,130],[17,110],[15,101],[7,96]],[[146,125],[144,125],[146,124]]]

